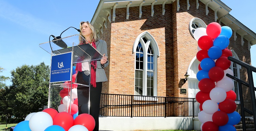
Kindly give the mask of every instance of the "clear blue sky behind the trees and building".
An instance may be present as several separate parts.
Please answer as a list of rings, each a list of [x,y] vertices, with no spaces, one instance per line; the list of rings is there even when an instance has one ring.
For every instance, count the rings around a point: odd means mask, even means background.
[[[69,27],[79,29],[80,21],[91,21],[99,1],[0,0],[0,67],[5,69],[0,75],[11,77],[10,71],[24,64],[45,62],[50,65],[51,55],[39,44],[47,42],[50,35],[59,36]],[[233,17],[256,32],[256,17],[253,15],[255,0],[222,2],[232,9],[230,14]],[[78,33],[70,28],[61,36]],[[252,65],[256,66],[256,45],[251,48],[251,56]],[[10,85],[11,82],[7,81],[6,84]]]

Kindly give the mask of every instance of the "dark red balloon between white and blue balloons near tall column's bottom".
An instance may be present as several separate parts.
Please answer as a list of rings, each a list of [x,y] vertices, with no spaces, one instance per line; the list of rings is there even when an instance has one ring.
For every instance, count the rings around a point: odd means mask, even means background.
[[[224,126],[228,123],[228,115],[224,111],[216,111],[212,115],[212,121],[217,126]]]

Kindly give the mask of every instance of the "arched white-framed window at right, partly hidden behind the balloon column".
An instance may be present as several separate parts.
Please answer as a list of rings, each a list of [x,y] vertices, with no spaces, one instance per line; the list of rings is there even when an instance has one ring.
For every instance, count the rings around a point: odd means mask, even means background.
[[[239,60],[236,52],[234,52],[234,50],[231,50],[232,52],[232,57]],[[233,63],[231,62],[231,65],[230,65],[230,69],[233,71],[234,73],[234,77],[240,79],[240,69],[241,69],[241,66],[236,64],[236,63]],[[236,100],[240,100],[240,97],[239,97],[239,89],[238,89],[238,82],[233,80],[234,81],[234,87],[233,87],[233,91],[237,94],[237,99]]]

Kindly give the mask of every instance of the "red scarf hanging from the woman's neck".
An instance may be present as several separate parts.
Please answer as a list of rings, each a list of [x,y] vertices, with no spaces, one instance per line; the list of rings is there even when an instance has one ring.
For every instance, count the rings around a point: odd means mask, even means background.
[[[80,45],[83,45],[84,43],[80,43]],[[96,49],[95,41],[92,42],[92,46]],[[97,68],[97,61],[91,61],[91,85],[93,87],[96,87],[96,68]],[[75,67],[76,71],[82,71],[82,63],[76,63]]]

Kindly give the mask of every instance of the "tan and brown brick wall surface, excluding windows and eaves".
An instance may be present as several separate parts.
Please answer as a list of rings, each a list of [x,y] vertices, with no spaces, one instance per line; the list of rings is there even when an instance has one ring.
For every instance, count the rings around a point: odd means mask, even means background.
[[[189,1],[187,10],[186,0],[180,0],[180,10],[176,2],[165,5],[165,15],[162,15],[162,5],[154,5],[154,16],[151,17],[151,6],[142,6],[142,17],[139,18],[139,7],[129,8],[129,19],[126,19],[126,8],[116,9],[115,21],[109,21],[101,38],[108,45],[110,65],[106,68],[108,82],[103,83],[102,93],[134,95],[134,58],[133,43],[142,32],[149,32],[156,40],[160,57],[157,58],[157,96],[187,97],[180,94],[179,87],[188,88],[188,83],[179,85],[187,71],[191,60],[196,56],[197,41],[190,35],[189,21],[195,17],[202,19],[205,24],[214,22],[214,11],[208,8],[205,15],[205,5],[199,1]],[[218,21],[217,21],[218,22]],[[222,25],[225,26],[225,25]],[[241,46],[241,36],[237,34],[230,38],[228,49],[233,49],[239,59],[251,64],[250,51],[247,41]],[[239,49],[239,50],[238,50]],[[240,76],[247,81],[246,70],[242,67]],[[244,88],[244,92],[246,92]],[[247,92],[246,92],[247,93]]]

